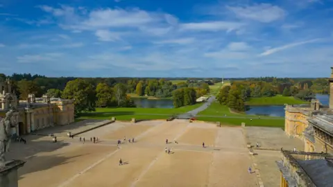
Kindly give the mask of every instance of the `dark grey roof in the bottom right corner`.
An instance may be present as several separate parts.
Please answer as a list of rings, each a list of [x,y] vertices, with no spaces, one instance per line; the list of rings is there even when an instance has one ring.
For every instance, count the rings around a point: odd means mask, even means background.
[[[330,159],[298,160],[298,163],[316,186],[332,187],[333,166]]]

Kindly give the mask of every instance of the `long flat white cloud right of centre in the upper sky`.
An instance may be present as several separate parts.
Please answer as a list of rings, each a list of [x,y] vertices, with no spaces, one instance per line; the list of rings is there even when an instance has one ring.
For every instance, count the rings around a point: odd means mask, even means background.
[[[182,30],[203,30],[203,31],[221,31],[221,30],[237,30],[244,26],[244,24],[239,22],[230,22],[230,21],[210,21],[210,22],[201,22],[201,23],[189,23],[182,24],[180,28]]]

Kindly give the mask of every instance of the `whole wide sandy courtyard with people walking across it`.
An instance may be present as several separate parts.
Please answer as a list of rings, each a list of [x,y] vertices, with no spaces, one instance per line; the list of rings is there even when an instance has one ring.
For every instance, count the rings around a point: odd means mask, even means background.
[[[50,137],[31,135],[27,145],[14,143],[10,154],[27,161],[19,169],[20,187],[257,186],[255,173],[247,172],[251,160],[241,128],[206,125],[114,123],[83,134],[103,137],[96,144],[65,137],[50,143]],[[119,136],[135,136],[137,142],[118,149],[113,139]],[[202,148],[202,139],[215,148]],[[164,152],[166,146],[173,148],[171,154]]]

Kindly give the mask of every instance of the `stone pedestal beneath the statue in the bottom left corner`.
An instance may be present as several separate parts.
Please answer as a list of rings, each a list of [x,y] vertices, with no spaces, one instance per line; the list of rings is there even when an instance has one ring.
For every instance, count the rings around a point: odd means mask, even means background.
[[[18,187],[17,169],[24,166],[24,161],[7,161],[0,166],[0,186]],[[1,164],[1,163],[0,163]]]

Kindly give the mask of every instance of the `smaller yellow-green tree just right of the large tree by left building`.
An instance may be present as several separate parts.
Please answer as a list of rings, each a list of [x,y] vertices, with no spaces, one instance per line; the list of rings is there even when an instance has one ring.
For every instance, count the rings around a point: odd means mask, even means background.
[[[96,98],[97,107],[110,107],[114,98],[114,91],[108,84],[99,83],[96,87]]]

